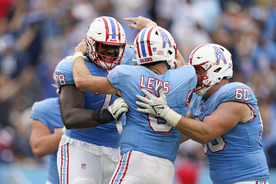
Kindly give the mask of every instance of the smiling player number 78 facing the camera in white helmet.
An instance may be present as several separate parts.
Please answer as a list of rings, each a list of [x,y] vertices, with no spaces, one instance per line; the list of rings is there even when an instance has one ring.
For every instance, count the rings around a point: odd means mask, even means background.
[[[135,57],[134,52],[126,46],[124,30],[116,19],[96,18],[88,26],[85,38],[83,58],[89,72],[106,76],[108,70],[119,64],[134,64],[130,60]],[[80,91],[72,67],[73,57],[66,57],[55,72],[60,87],[61,118],[66,127],[57,154],[60,183],[109,183],[120,161],[121,135],[116,128],[116,117],[107,108],[118,97]],[[127,104],[123,104],[127,111]],[[121,120],[124,125],[125,115]]]

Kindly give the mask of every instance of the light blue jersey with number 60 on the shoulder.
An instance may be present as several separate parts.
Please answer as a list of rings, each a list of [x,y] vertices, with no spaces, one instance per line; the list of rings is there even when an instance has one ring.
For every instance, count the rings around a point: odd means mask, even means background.
[[[267,182],[269,172],[261,143],[262,119],[250,87],[243,83],[229,83],[204,100],[204,96],[192,97],[190,112],[195,120],[206,121],[219,104],[227,101],[247,104],[254,113],[252,120],[239,122],[224,135],[203,145],[213,183]]]

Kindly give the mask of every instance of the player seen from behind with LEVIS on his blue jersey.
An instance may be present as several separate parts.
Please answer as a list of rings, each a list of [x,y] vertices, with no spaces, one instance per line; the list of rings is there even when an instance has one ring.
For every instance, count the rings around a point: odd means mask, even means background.
[[[75,53],[84,53],[82,47],[85,39]],[[196,87],[196,73],[188,65],[172,70],[177,61],[177,45],[170,33],[159,26],[148,26],[139,32],[134,52],[139,66],[116,66],[108,78],[91,75],[83,57],[76,57],[73,64],[76,86],[97,93],[119,92],[130,106],[120,140],[122,157],[110,183],[172,183],[180,133],[162,118],[137,112],[136,93],[148,89],[156,95],[161,85],[170,108],[186,116],[189,95]],[[185,77],[179,80],[183,74]]]

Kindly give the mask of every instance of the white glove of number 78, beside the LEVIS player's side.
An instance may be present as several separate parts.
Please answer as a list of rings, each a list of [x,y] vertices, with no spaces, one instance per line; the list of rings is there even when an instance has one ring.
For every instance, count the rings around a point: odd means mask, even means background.
[[[112,116],[116,119],[116,127],[119,132],[119,134],[123,131],[122,121],[120,120],[120,117],[124,112],[127,112],[129,110],[129,105],[124,101],[122,97],[117,98],[111,106],[107,109]]]

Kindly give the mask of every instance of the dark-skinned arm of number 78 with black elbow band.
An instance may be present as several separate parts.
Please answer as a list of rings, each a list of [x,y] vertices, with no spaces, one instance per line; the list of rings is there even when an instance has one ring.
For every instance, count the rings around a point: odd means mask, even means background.
[[[89,129],[114,120],[106,109],[84,109],[84,92],[75,85],[61,86],[59,104],[61,119],[66,129]]]

